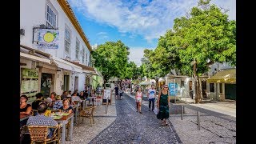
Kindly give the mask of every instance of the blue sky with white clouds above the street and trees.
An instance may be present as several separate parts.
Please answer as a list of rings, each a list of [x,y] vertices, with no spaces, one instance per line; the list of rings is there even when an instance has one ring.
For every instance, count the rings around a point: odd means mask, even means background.
[[[121,40],[130,61],[141,66],[143,50],[154,50],[158,38],[172,29],[198,0],[68,0],[91,46]],[[236,19],[236,0],[211,0]]]

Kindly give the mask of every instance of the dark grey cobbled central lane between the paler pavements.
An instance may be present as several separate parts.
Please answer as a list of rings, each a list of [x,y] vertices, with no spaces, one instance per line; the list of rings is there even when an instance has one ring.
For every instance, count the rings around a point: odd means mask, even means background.
[[[124,94],[116,100],[116,120],[90,141],[94,143],[182,143],[173,126],[160,126],[160,120],[147,106],[136,112],[133,98]],[[171,124],[171,123],[170,123]]]

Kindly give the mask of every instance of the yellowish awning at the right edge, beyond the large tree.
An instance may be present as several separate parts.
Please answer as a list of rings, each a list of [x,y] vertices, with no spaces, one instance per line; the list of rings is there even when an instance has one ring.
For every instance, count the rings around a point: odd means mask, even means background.
[[[236,69],[220,70],[207,79],[210,83],[236,83]]]

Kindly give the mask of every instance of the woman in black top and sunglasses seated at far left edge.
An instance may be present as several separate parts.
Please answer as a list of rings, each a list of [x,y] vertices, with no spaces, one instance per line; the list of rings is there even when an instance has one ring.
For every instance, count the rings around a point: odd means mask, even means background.
[[[19,114],[31,114],[32,106],[26,103],[28,99],[26,95],[20,97]]]

